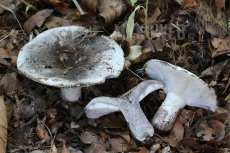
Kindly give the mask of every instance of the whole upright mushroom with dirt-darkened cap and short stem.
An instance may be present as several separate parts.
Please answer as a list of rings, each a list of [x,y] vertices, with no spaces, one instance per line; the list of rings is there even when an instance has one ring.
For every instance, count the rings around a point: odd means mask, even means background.
[[[80,26],[53,28],[39,34],[19,52],[17,67],[26,77],[61,88],[67,101],[77,101],[81,87],[103,83],[120,75],[121,47],[105,36],[86,38]]]

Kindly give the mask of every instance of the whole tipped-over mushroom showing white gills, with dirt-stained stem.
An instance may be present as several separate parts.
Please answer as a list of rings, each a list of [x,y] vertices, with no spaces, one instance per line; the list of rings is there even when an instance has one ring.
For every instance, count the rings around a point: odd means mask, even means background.
[[[216,112],[217,98],[214,90],[193,73],[156,59],[148,61],[144,71],[151,79],[164,84],[163,90],[167,94],[151,121],[156,129],[169,131],[180,110],[186,105]]]

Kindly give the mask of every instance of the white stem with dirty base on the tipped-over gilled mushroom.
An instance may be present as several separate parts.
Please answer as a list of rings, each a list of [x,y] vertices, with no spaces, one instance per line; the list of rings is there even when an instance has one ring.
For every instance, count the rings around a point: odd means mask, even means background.
[[[168,132],[185,105],[186,103],[182,98],[173,92],[168,92],[164,102],[151,121],[152,125],[160,131]]]

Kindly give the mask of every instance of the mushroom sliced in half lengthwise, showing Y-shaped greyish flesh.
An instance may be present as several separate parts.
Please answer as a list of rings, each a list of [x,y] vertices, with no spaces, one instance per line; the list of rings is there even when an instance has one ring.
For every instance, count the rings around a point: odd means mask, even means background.
[[[88,118],[99,118],[121,111],[134,138],[145,143],[153,136],[154,129],[141,110],[139,102],[150,92],[163,87],[155,80],[143,81],[118,98],[97,97],[92,99],[85,107],[85,114]]]

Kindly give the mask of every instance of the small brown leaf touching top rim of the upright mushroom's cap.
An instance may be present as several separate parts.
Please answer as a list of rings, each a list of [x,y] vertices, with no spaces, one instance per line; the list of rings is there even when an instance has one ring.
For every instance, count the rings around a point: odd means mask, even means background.
[[[63,19],[60,17],[56,17],[56,16],[50,16],[46,19],[46,21],[44,22],[44,25],[48,29],[52,29],[52,28],[56,28],[56,27],[72,25],[72,21],[66,20],[66,19]]]

